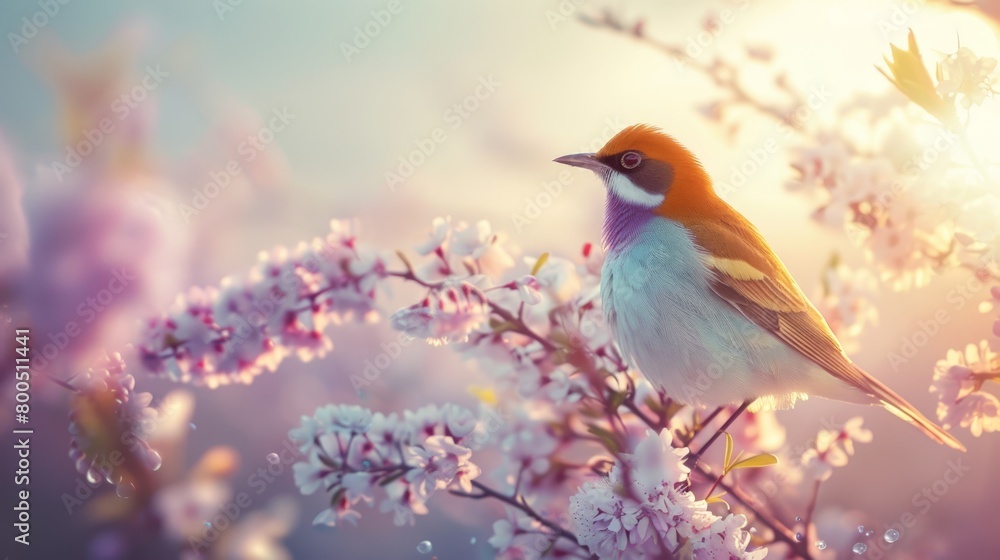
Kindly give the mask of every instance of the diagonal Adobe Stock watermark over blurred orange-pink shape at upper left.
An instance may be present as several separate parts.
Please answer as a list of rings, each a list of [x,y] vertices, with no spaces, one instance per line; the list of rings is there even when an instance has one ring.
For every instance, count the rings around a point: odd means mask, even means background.
[[[62,161],[52,162],[50,167],[56,179],[61,183],[66,174],[79,167],[88,156],[96,152],[101,144],[115,133],[119,123],[128,119],[129,115],[146,101],[150,93],[160,87],[163,79],[169,76],[170,72],[161,68],[159,64],[146,66],[146,73],[132,89],[111,102],[109,109],[118,117],[117,121],[111,117],[104,117],[97,122],[96,127],[82,129],[80,131],[82,138],[75,145],[66,146],[66,155]]]

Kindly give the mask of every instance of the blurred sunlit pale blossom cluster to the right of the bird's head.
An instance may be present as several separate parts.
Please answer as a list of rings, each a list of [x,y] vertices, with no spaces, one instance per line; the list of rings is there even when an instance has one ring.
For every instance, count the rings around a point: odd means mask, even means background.
[[[860,111],[856,106],[844,109],[844,120],[853,120]],[[864,112],[876,124],[868,136],[879,137],[879,127],[886,144],[903,134],[902,118],[875,117]],[[943,136],[956,142],[954,135]],[[956,211],[939,204],[934,192],[943,180],[943,171],[921,159],[923,146],[906,145],[895,157],[862,155],[861,140],[835,131],[820,134],[815,141],[794,152],[792,167],[799,176],[789,187],[799,191],[820,191],[823,202],[813,217],[843,229],[849,239],[864,249],[867,260],[879,272],[881,280],[896,288],[925,285],[931,275],[949,260],[955,243]],[[938,144],[946,150],[950,144]],[[909,150],[909,151],[907,151]],[[875,149],[889,153],[888,145]],[[897,147],[896,152],[901,148]],[[935,155],[934,159],[942,157]]]

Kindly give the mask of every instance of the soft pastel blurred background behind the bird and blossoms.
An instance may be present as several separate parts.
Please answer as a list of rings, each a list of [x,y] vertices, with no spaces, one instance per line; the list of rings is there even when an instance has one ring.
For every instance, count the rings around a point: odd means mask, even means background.
[[[551,160],[596,150],[639,122],[661,126],[723,178],[748,150],[776,139],[778,150],[726,199],[813,293],[831,254],[855,266],[864,259],[844,231],[811,219],[814,201],[787,191],[796,175],[789,153],[801,138],[776,133],[777,123],[760,115],[747,115],[738,129],[721,125],[705,107],[717,84],[636,35],[693,46],[687,54],[695,62],[752,62],[756,53],[765,77],[751,74],[748,83],[764,87],[774,74],[787,75],[797,90],[823,99],[809,116],[816,123],[835,119],[838,106],[859,93],[891,89],[875,66],[890,42],[905,44],[907,28],[925,53],[953,52],[959,37],[980,55],[998,51],[990,4],[69,1],[45,4],[49,13],[43,4],[0,6],[8,39],[0,49],[0,294],[9,317],[0,331],[10,340],[14,328],[30,324],[36,345],[56,343],[67,319],[82,318],[82,332],[68,335],[47,365],[46,373],[62,378],[104,351],[125,352],[136,324],[189,286],[242,274],[259,251],[322,235],[333,218],[357,218],[367,243],[390,250],[412,250],[434,217],[450,215],[489,220],[525,255],[576,254],[599,241],[602,190],[582,172],[564,179]],[[39,12],[46,17],[33,20]],[[604,13],[641,28],[613,32],[581,19]],[[711,33],[701,35],[705,30]],[[111,123],[106,130],[102,119]],[[93,153],[79,150],[83,140]],[[983,145],[995,151],[995,141]],[[414,158],[421,148],[424,155]],[[213,181],[220,188],[209,197]],[[534,212],[529,207],[552,182],[564,188]],[[114,270],[132,277],[124,291],[111,302],[87,303]],[[880,291],[878,323],[854,354],[928,415],[935,361],[989,332],[991,318],[977,312],[988,290],[980,285],[960,306],[950,297],[968,280],[967,271],[955,270],[920,289]],[[391,294],[385,310],[408,303],[408,294]],[[890,353],[941,309],[950,319],[941,332],[894,368]],[[396,335],[383,321],[331,337],[327,358],[289,361],[247,386],[181,387],[136,368],[137,390],[176,399],[178,412],[167,420],[173,431],[163,435],[171,449],[158,473],[163,492],[195,491],[185,481],[202,469],[221,473],[231,492],[251,493],[253,506],[240,520],[247,525],[227,537],[220,558],[419,558],[415,547],[424,540],[441,559],[491,558],[485,541],[495,504],[438,497],[414,527],[393,527],[371,512],[356,528],[321,531],[309,520],[326,498],[300,496],[289,468],[256,493],[249,477],[317,406],[389,411],[473,402],[465,386],[482,374],[448,349],[422,344],[405,347],[359,395],[350,375]],[[11,382],[2,393],[4,403],[14,402]],[[25,554],[5,537],[3,550],[11,558],[180,557],[183,539],[142,536],[170,535],[170,527],[149,527],[170,520],[121,521],[127,506],[113,488],[95,491],[106,500],[67,507],[64,495],[76,492],[80,477],[67,458],[68,399],[61,387],[35,378],[32,544]],[[989,527],[1000,499],[992,480],[1000,460],[995,437],[958,432],[970,470],[923,512],[915,496],[953,460],[943,448],[880,410],[812,400],[778,418],[787,445],[802,446],[824,421],[858,414],[875,440],[824,486],[821,515],[881,528],[913,512],[917,531],[933,537],[920,541],[920,550],[902,542],[889,557],[1000,557]],[[0,428],[11,429],[12,417],[0,415]],[[3,453],[6,473],[14,458],[9,445]],[[13,489],[4,480],[6,519]]]

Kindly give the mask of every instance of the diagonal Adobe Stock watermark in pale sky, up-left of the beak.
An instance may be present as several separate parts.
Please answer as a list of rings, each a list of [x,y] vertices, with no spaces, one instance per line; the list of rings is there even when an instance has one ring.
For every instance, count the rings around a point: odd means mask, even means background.
[[[412,177],[416,170],[437,152],[441,144],[448,140],[446,129],[455,131],[461,128],[465,121],[482,107],[483,102],[493,97],[500,85],[501,83],[493,78],[493,74],[479,76],[472,93],[444,110],[441,120],[447,126],[436,126],[426,136],[416,139],[413,142],[415,148],[399,156],[396,170],[386,171],[385,182],[389,191],[396,192],[399,185]]]

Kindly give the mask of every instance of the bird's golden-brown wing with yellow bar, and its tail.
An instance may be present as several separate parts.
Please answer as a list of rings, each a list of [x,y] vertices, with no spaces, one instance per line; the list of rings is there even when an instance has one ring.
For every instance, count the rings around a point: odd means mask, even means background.
[[[746,218],[728,205],[716,217],[693,220],[685,226],[705,250],[703,261],[709,271],[709,282],[720,298],[834,377],[871,395],[893,414],[917,425],[932,439],[964,450],[951,434],[851,362],[826,320]]]

